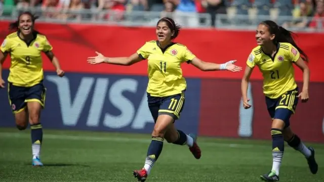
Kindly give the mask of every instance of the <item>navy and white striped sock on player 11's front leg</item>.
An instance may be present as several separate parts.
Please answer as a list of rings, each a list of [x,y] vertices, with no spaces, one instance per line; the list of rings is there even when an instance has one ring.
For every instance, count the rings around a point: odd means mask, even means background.
[[[164,142],[163,138],[152,137],[151,144],[148,147],[147,155],[145,158],[145,164],[144,164],[144,169],[147,171],[147,174],[150,173],[158,156],[161,154],[163,149],[163,142]]]

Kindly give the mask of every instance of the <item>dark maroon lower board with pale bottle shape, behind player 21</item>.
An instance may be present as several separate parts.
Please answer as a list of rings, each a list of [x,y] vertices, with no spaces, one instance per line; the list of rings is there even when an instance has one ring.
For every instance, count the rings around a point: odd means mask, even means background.
[[[310,100],[299,102],[291,128],[305,141],[324,142],[324,95],[319,92],[324,83],[311,83],[310,88]],[[252,82],[249,99],[252,108],[243,109],[239,80],[201,79],[199,134],[271,139],[262,81]]]

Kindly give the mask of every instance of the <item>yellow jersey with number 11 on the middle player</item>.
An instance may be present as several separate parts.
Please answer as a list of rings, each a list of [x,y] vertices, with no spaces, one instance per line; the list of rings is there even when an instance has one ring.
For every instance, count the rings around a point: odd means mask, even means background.
[[[182,76],[181,63],[190,63],[195,56],[179,43],[171,43],[165,49],[158,46],[157,40],[146,42],[137,54],[148,61],[147,92],[153,97],[166,97],[180,94],[187,83]]]

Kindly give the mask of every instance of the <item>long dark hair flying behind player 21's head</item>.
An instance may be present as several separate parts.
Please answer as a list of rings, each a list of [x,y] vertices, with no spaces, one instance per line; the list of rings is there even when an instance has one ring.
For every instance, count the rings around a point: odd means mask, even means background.
[[[271,20],[263,21],[260,24],[267,26],[269,32],[275,35],[273,39],[274,44],[277,44],[278,42],[291,43],[299,51],[301,58],[306,62],[309,61],[308,56],[304,53],[302,49],[298,47],[297,43],[295,42],[293,35],[296,34],[294,32],[286,30],[281,26],[278,26],[274,21]]]

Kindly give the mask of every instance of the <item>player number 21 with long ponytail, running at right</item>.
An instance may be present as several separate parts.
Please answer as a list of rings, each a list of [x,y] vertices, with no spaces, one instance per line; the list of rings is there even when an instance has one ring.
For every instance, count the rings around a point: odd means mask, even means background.
[[[279,168],[284,155],[284,141],[295,150],[300,151],[307,159],[309,169],[316,174],[318,166],[315,161],[314,149],[307,148],[290,128],[290,116],[295,113],[298,99],[308,100],[309,69],[307,55],[295,43],[292,32],[278,26],[273,21],[261,22],[256,31],[258,46],[251,52],[244,77],[241,82],[241,92],[244,108],[251,107],[247,97],[250,75],[255,66],[263,74],[263,93],[268,112],[272,118],[272,169],[261,176],[265,181],[278,181]],[[296,64],[303,71],[304,84],[302,92],[294,78]]]

